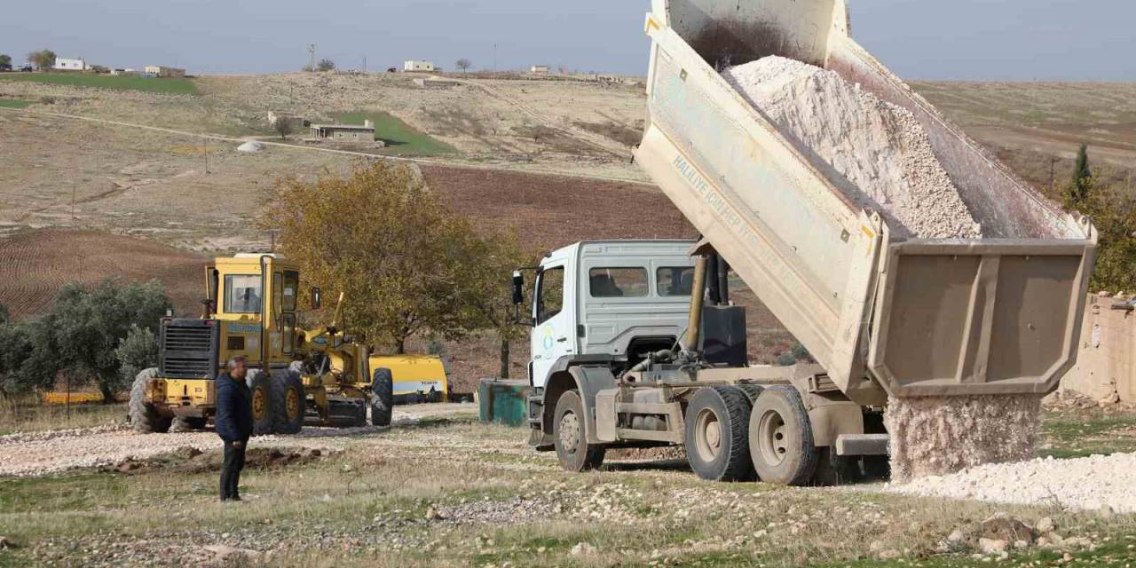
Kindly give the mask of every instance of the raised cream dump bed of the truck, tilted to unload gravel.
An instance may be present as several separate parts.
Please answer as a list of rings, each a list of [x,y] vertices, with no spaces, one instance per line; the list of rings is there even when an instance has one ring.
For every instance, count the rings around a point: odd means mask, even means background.
[[[849,36],[843,0],[653,0],[638,164],[853,401],[1045,393],[1074,364],[1096,232]],[[899,240],[719,72],[777,55],[910,110],[979,240]],[[892,227],[897,228],[897,227]]]

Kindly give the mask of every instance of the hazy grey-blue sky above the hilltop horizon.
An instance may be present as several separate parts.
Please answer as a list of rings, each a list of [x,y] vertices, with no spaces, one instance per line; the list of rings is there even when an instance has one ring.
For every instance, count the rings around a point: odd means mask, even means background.
[[[759,1],[759,0],[740,0]],[[800,0],[797,0],[800,1]],[[433,60],[643,75],[649,0],[37,0],[5,2],[0,53],[108,67],[272,73]],[[852,34],[908,80],[1136,81],[1134,0],[851,0]],[[495,48],[494,48],[495,45]]]

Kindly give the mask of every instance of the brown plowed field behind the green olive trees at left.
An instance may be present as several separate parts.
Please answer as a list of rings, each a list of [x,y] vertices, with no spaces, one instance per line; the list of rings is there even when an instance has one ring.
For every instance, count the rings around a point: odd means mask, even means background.
[[[197,315],[203,258],[131,236],[43,229],[0,239],[0,303],[14,318],[45,311],[60,286],[157,278],[181,315]]]

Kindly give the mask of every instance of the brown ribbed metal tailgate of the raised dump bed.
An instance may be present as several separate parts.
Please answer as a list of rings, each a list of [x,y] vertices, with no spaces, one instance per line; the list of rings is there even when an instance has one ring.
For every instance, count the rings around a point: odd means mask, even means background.
[[[1086,241],[891,244],[868,367],[893,396],[1046,394],[1076,362]]]

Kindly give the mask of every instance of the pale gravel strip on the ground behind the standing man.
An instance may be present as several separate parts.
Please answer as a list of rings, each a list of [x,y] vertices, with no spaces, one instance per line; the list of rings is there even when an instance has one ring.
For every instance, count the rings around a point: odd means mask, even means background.
[[[423,418],[462,410],[474,411],[474,404],[417,404],[398,407],[393,427],[414,424]],[[292,436],[257,436],[249,444],[281,448],[342,449],[352,437],[386,428],[304,427]],[[75,468],[112,466],[127,458],[142,459],[178,448],[215,450],[222,441],[212,431],[169,434],[137,434],[125,425],[75,428],[51,432],[17,433],[0,436],[0,476],[36,476]]]

